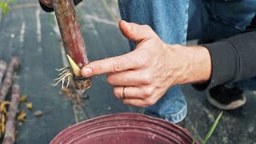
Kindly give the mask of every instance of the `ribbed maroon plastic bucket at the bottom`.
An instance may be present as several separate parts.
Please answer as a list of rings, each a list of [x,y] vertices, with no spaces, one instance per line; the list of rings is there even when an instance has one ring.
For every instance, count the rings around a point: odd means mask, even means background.
[[[144,114],[110,114],[62,130],[50,144],[170,144],[192,143],[184,128]],[[198,142],[195,142],[198,144]]]

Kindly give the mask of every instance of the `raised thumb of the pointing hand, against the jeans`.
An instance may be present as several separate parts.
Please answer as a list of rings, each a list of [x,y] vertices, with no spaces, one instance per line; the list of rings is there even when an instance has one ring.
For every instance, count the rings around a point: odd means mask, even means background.
[[[155,35],[154,30],[148,25],[138,25],[124,20],[119,22],[119,28],[126,38],[136,42],[141,42]]]

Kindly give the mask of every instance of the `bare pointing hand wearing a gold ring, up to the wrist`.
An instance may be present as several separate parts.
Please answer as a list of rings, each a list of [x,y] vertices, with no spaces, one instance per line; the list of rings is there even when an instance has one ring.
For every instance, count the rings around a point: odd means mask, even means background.
[[[193,64],[191,58],[194,58],[186,57],[187,52],[194,54],[190,48],[167,45],[150,26],[121,21],[119,27],[126,38],[138,42],[136,49],[114,58],[90,62],[82,68],[83,76],[107,74],[107,82],[114,86],[117,98],[123,97],[126,86],[122,101],[141,107],[153,105],[170,86],[191,80],[186,73]]]

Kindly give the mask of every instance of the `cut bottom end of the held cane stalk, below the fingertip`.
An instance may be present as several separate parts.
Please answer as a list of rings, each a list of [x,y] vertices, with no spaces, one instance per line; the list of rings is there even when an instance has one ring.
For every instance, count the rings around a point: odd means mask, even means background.
[[[86,90],[89,89],[92,81],[90,78],[86,77],[75,77],[73,76],[73,81],[74,81],[74,88],[77,90]]]

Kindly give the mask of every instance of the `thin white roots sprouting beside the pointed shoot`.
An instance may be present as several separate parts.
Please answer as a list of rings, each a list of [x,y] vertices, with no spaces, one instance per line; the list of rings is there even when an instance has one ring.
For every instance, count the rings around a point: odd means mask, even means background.
[[[64,88],[64,83],[67,80],[66,87],[70,84],[70,77],[73,77],[73,72],[70,70],[70,67],[63,67],[62,69],[56,69],[58,71],[62,71],[59,78],[54,79],[54,81],[57,81],[54,86],[57,86],[59,82],[62,82],[62,89]]]

